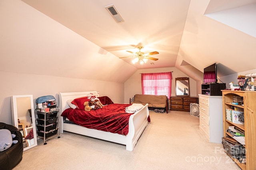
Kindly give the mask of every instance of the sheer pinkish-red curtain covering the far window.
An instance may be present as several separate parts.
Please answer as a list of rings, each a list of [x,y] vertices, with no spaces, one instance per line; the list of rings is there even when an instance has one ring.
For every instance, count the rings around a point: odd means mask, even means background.
[[[166,95],[168,99],[172,91],[172,72],[142,73],[143,95]]]

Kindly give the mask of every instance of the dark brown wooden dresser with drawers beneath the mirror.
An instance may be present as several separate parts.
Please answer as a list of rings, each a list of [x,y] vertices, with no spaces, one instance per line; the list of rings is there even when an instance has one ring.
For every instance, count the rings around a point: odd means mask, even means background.
[[[190,111],[190,103],[198,103],[197,97],[171,97],[171,111]]]

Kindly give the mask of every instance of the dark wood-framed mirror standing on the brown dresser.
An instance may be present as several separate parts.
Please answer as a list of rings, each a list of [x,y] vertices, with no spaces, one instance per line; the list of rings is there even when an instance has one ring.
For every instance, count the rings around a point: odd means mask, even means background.
[[[176,96],[190,96],[189,77],[175,78]]]

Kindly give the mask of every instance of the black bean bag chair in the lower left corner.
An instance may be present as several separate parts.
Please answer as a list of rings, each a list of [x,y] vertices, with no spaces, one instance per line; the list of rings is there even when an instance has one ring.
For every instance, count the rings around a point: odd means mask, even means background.
[[[12,144],[12,146],[2,152],[0,152],[0,169],[1,170],[11,170],[22,160],[23,154],[23,144],[22,144],[22,134],[18,128],[13,125],[8,125],[6,123],[0,122],[0,129],[8,129],[11,134],[16,136],[13,140],[18,140],[18,143]]]

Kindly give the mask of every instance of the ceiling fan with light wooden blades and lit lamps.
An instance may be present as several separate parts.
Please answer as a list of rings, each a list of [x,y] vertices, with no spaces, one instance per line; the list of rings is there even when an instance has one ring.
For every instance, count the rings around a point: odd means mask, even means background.
[[[140,65],[143,65],[144,63],[148,62],[148,59],[151,59],[154,61],[158,60],[158,58],[149,57],[149,55],[159,54],[157,51],[153,51],[150,53],[144,53],[144,52],[140,51],[143,48],[143,46],[138,46],[137,48],[139,49],[139,51],[136,53],[134,53],[132,51],[127,51],[129,53],[134,54],[134,56],[130,56],[130,57],[135,57],[135,59],[132,60],[132,63],[136,63],[136,62],[140,61]],[[120,58],[127,58],[127,57],[120,57]]]

